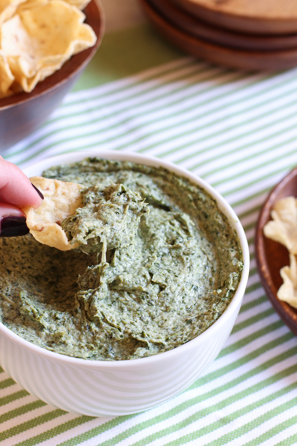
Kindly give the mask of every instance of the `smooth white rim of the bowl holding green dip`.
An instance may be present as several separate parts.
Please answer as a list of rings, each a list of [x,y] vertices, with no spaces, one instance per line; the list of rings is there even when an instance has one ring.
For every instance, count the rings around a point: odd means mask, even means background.
[[[244,229],[237,215],[233,211],[232,207],[228,204],[228,202],[202,178],[199,178],[198,176],[189,172],[187,169],[178,167],[177,165],[171,162],[163,161],[156,157],[142,155],[138,153],[116,151],[116,150],[101,150],[100,148],[90,149],[90,150],[80,150],[76,152],[68,152],[68,153],[63,153],[61,155],[45,158],[31,165],[27,165],[27,167],[23,168],[22,170],[26,175],[33,176],[32,175],[33,172],[35,172],[35,175],[37,175],[37,172],[41,172],[42,170],[49,168],[51,166],[59,164],[69,164],[76,161],[81,161],[86,157],[99,157],[103,159],[114,159],[118,161],[133,161],[138,164],[151,165],[155,167],[164,167],[165,169],[168,169],[179,176],[189,179],[191,182],[194,182],[195,184],[206,190],[207,193],[210,194],[212,198],[216,200],[216,203],[220,211],[223,212],[224,215],[227,217],[229,223],[231,224],[231,227],[236,231],[236,234],[240,241],[240,248],[242,251],[244,267],[242,270],[240,282],[237,286],[234,296],[232,297],[232,301],[224,310],[223,314],[211,326],[209,326],[205,331],[203,331],[203,333],[196,336],[194,339],[191,339],[190,341],[187,341],[186,343],[179,345],[178,347],[175,347],[171,350],[164,351],[162,353],[158,353],[152,356],[147,356],[145,358],[123,359],[118,361],[75,358],[72,356],[63,355],[61,353],[49,351],[43,347],[34,345],[33,343],[21,338],[19,335],[13,333],[11,330],[5,327],[4,324],[1,322],[0,322],[0,333],[2,332],[4,335],[8,336],[12,341],[20,344],[21,347],[25,348],[26,350],[29,350],[34,354],[42,356],[44,359],[52,360],[56,363],[57,362],[63,363],[69,366],[72,365],[74,367],[83,367],[83,368],[87,367],[93,370],[112,369],[114,371],[117,371],[120,369],[127,369],[127,368],[130,370],[138,369],[142,368],[143,366],[150,367],[155,363],[174,359],[176,355],[186,354],[187,351],[192,350],[195,347],[198,347],[199,344],[211,338],[213,332],[220,330],[220,327],[224,326],[224,323],[226,319],[229,317],[229,315],[231,316],[234,312],[236,312],[244,296],[244,291],[247,285],[248,273],[249,273],[249,249]]]

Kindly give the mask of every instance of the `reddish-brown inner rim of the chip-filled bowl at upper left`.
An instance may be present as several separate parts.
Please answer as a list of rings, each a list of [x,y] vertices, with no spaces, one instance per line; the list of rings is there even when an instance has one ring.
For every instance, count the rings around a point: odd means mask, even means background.
[[[100,17],[100,31],[98,33],[97,36],[97,40],[94,43],[93,46],[91,46],[90,48],[86,48],[85,50],[81,51],[80,53],[77,54],[81,54],[86,52],[89,52],[89,54],[87,54],[85,56],[85,58],[83,59],[83,61],[73,70],[71,71],[69,74],[65,74],[65,76],[59,80],[57,83],[53,83],[53,84],[49,84],[48,87],[45,87],[44,89],[41,89],[41,91],[34,91],[35,88],[33,88],[33,90],[30,93],[27,93],[25,91],[20,91],[17,93],[14,93],[10,96],[4,97],[4,98],[0,98],[0,112],[7,110],[8,108],[12,108],[12,107],[17,107],[18,105],[21,105],[25,102],[29,102],[32,101],[33,99],[36,99],[39,96],[43,96],[46,93],[49,93],[49,91],[54,90],[55,88],[61,86],[63,83],[65,83],[67,80],[69,80],[70,78],[72,78],[73,76],[75,76],[75,74],[82,70],[89,62],[90,60],[94,57],[96,51],[98,50],[101,42],[102,42],[102,38],[104,35],[104,31],[105,31],[105,13],[104,13],[104,9],[101,3],[101,0],[90,0],[89,3],[93,2],[94,4],[96,4],[97,9],[98,9],[98,16]],[[86,5],[85,8],[88,7],[89,4]],[[88,21],[88,15],[85,13],[85,9],[83,11],[83,14],[85,15],[85,19],[83,23],[87,23]],[[65,63],[69,62],[71,60],[72,57],[75,57],[77,54],[73,54],[67,61],[65,61]],[[61,66],[60,70],[63,69],[64,64]],[[56,70],[53,74],[51,74],[50,76],[47,76],[42,82],[46,82],[51,76],[53,76],[55,73],[59,73],[60,70]],[[37,83],[41,84],[40,82]],[[23,97],[25,96],[23,99],[17,100],[18,97]],[[3,105],[1,105],[1,102],[4,103]]]

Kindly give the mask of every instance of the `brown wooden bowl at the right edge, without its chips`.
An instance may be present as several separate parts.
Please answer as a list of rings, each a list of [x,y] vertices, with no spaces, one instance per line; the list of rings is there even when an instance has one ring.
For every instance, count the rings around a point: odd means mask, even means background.
[[[277,290],[283,283],[280,269],[289,265],[288,250],[263,234],[263,227],[271,220],[270,212],[274,204],[289,196],[297,197],[297,167],[275,186],[262,207],[256,226],[255,252],[258,272],[267,296],[285,324],[297,335],[297,309],[277,297]]]

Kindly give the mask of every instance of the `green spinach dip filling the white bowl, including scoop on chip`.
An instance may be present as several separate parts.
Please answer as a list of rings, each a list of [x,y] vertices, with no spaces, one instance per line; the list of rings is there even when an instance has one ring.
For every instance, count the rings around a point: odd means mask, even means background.
[[[135,359],[207,329],[235,293],[239,241],[215,200],[163,168],[86,159],[46,170],[81,183],[62,222],[80,249],[31,234],[0,239],[0,318],[22,338],[76,358]]]

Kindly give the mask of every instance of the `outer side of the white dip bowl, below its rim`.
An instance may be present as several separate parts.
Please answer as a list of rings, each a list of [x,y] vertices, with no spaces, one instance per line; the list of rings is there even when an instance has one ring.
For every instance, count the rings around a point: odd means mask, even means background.
[[[42,357],[4,334],[0,337],[0,363],[28,392],[60,409],[91,416],[137,413],[179,394],[203,373],[223,347],[238,310],[199,346],[193,343],[193,348],[176,357],[156,355],[156,361],[147,366],[144,358],[142,367],[138,360],[130,360],[125,370],[113,362],[102,370],[86,369]]]

